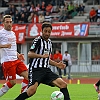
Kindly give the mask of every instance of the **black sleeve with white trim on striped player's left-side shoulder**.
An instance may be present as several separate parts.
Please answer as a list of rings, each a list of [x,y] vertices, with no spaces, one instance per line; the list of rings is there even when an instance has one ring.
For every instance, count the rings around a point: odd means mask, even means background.
[[[41,39],[38,39],[38,38],[35,38],[32,42],[32,45],[31,45],[31,48],[30,48],[30,51],[33,51],[35,52],[38,47],[41,45]]]

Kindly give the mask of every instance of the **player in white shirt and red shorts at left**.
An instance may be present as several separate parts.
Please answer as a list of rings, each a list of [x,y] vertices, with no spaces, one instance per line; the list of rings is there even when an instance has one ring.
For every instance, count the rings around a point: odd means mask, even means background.
[[[21,92],[27,90],[28,71],[23,63],[24,56],[17,52],[16,36],[12,29],[11,15],[3,17],[4,28],[0,30],[1,64],[7,82],[0,89],[0,96],[4,95],[16,84],[16,74],[23,76]]]

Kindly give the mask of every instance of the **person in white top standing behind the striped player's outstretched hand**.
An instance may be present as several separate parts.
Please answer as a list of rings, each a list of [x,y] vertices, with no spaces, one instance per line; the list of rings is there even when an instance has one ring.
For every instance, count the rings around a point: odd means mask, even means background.
[[[65,54],[63,55],[63,61],[66,63],[66,67],[68,66],[68,79],[71,79],[70,72],[71,72],[72,61],[68,51],[65,51]],[[64,69],[64,72],[65,72],[64,74],[66,74],[66,68]]]

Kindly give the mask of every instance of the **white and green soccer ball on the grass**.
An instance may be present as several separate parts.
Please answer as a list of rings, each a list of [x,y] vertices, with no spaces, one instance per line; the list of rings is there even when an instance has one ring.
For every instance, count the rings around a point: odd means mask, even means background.
[[[51,100],[64,100],[64,95],[60,91],[54,91],[51,94]]]

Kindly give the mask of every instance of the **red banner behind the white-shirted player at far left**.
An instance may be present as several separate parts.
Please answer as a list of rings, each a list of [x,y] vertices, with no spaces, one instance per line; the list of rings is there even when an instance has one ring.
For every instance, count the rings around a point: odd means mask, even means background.
[[[0,29],[3,28],[3,25],[0,24]],[[13,24],[12,31],[16,34],[17,43],[24,43],[26,36],[26,24]]]

